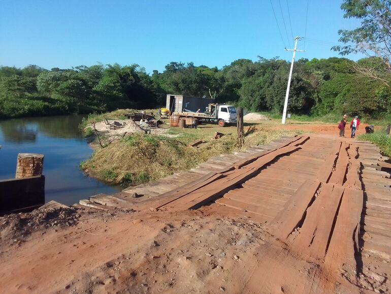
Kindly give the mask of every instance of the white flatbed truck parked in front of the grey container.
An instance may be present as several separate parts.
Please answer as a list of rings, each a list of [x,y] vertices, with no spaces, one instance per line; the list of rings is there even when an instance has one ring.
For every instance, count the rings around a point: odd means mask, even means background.
[[[232,105],[209,104],[205,112],[173,112],[179,117],[192,117],[200,122],[218,123],[220,127],[236,123],[236,109]]]

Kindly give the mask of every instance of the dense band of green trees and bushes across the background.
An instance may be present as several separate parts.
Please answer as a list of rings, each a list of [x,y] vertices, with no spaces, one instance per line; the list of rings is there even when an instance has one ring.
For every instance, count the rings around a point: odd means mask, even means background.
[[[371,58],[357,62],[371,67]],[[295,63],[289,93],[292,113],[378,116],[391,111],[384,82],[356,73],[346,58]],[[147,74],[138,65],[78,66],[50,71],[35,65],[0,67],[0,117],[152,108],[166,93],[215,98],[252,111],[281,113],[290,64],[279,58],[241,59],[222,69],[172,62]]]

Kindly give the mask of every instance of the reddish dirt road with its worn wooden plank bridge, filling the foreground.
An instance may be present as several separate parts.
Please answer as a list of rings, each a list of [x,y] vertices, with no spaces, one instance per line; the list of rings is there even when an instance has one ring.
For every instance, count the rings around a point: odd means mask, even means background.
[[[73,225],[24,234],[2,218],[2,289],[389,292],[391,180],[378,160],[372,144],[303,135],[135,212],[83,208]]]

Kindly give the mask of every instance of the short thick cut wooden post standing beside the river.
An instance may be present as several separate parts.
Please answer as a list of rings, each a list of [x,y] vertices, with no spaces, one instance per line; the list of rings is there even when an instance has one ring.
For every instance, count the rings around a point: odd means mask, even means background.
[[[16,179],[42,175],[44,156],[42,154],[19,153],[16,165]]]

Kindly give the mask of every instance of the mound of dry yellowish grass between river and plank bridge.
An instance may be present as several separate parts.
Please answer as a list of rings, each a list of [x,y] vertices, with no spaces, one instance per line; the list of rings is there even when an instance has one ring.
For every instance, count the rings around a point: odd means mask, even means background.
[[[231,129],[231,128],[227,128]],[[236,128],[232,128],[236,129]],[[219,129],[220,131],[221,128]],[[224,133],[229,133],[225,131]],[[135,186],[167,177],[177,171],[189,170],[212,156],[239,150],[236,134],[211,140],[214,128],[170,129],[167,135],[133,134],[98,149],[81,164],[83,170],[106,182]],[[245,138],[245,145],[269,143],[282,134],[297,133],[260,128]],[[194,140],[204,140],[198,148],[189,147]]]

